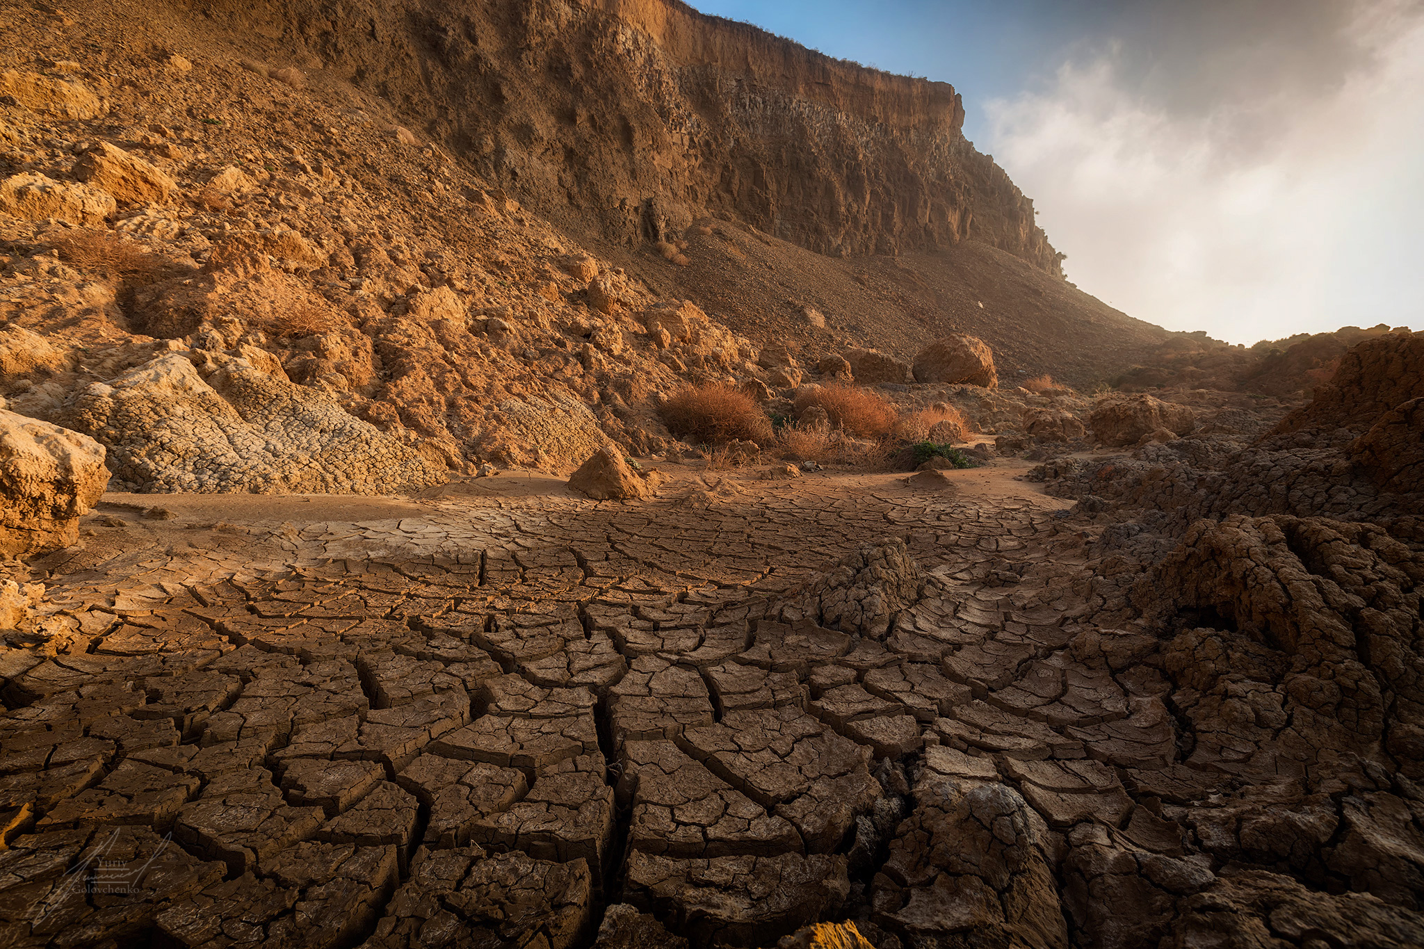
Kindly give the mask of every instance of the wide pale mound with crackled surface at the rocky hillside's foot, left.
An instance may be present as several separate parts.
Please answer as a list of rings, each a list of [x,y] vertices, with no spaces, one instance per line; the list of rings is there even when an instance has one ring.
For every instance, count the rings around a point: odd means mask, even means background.
[[[204,378],[168,353],[78,393],[66,420],[131,491],[393,494],[444,484],[427,454],[335,398],[229,357]]]

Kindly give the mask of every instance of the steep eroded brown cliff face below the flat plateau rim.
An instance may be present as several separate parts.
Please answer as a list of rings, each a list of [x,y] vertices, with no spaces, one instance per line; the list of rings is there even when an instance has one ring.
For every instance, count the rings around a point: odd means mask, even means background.
[[[191,6],[320,61],[524,203],[605,238],[661,240],[713,213],[820,253],[974,238],[1061,273],[1032,202],[964,139],[946,83],[675,0]]]

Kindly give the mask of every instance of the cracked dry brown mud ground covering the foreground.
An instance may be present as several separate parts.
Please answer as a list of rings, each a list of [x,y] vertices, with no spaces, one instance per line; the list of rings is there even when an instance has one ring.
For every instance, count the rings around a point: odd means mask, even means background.
[[[1360,737],[1418,694],[1418,561],[1239,518],[1148,571],[974,477],[54,555],[73,640],[0,670],[4,945],[1424,942],[1418,730]],[[1297,599],[1286,546],[1373,571],[1373,652],[1213,629],[1232,544]]]

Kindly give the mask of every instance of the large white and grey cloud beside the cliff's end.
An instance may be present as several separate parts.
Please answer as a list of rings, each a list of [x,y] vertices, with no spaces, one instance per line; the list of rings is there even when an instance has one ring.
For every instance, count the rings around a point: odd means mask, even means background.
[[[1156,50],[1148,26],[987,104],[988,151],[1069,279],[1236,343],[1424,322],[1420,4],[1331,3],[1283,31],[1206,17]]]

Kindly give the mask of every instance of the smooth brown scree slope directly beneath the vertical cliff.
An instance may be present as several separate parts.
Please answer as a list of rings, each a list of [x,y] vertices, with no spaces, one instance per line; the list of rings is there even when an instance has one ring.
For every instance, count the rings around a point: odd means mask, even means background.
[[[978,240],[827,258],[755,229],[706,225],[689,232],[685,267],[649,252],[601,250],[656,292],[698,300],[733,332],[782,343],[807,364],[867,344],[913,359],[946,333],[967,333],[993,346],[1005,383],[1048,373],[1088,388],[1179,336]],[[824,326],[807,320],[807,307]]]

